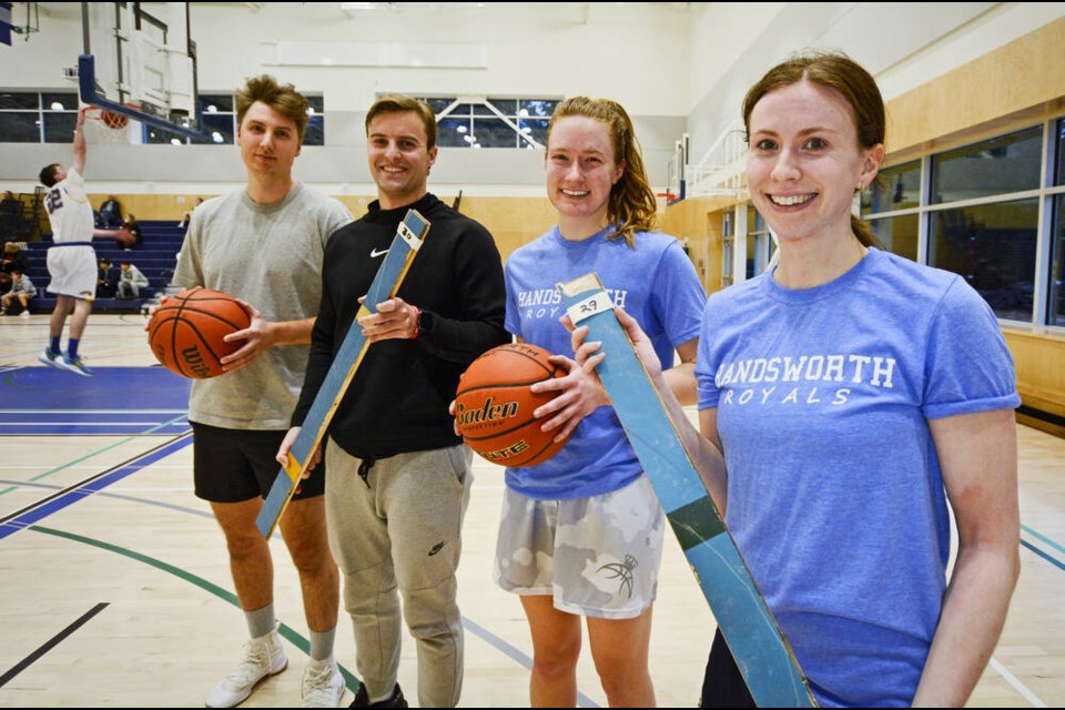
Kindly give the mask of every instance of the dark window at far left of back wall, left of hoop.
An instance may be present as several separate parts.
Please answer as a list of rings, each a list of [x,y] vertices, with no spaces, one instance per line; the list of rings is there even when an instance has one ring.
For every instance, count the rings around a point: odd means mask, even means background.
[[[73,91],[0,92],[0,143],[69,143],[77,124]]]

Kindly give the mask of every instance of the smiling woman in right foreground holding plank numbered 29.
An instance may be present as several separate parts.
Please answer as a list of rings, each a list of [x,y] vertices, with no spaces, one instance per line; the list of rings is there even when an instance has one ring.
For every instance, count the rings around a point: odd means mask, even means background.
[[[748,189],[780,261],[708,300],[702,437],[676,403],[674,420],[820,704],[962,706],[1018,574],[1012,357],[963,278],[876,248],[851,214],[884,159],[864,69],[789,59],[743,119]],[[585,369],[594,352],[579,345]],[[751,704],[716,638],[702,706]]]

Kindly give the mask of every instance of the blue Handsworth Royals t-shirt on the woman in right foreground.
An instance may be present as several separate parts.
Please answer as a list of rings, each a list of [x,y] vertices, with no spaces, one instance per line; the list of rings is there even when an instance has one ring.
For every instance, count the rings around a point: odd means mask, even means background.
[[[945,589],[929,419],[1014,408],[1013,359],[961,277],[870,250],[789,290],[713,294],[696,367],[726,521],[822,706],[909,706]]]

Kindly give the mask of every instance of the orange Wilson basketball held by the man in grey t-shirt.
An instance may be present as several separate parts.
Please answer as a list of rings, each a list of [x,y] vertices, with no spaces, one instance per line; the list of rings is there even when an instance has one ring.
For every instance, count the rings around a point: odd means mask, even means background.
[[[243,347],[222,338],[251,324],[233,296],[196,287],[163,300],[148,323],[148,344],[163,366],[182,377],[224,374],[221,361]]]

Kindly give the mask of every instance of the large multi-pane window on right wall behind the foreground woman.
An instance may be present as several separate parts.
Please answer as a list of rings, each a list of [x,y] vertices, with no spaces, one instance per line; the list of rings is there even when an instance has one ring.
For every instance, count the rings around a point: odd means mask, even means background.
[[[862,216],[890,251],[961,275],[1000,318],[1065,326],[1063,123],[884,168],[862,195]],[[1056,131],[1046,162],[1044,128]]]

